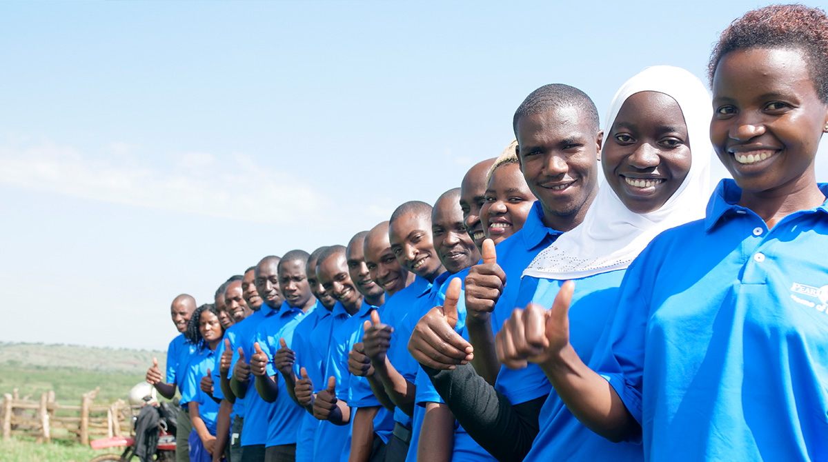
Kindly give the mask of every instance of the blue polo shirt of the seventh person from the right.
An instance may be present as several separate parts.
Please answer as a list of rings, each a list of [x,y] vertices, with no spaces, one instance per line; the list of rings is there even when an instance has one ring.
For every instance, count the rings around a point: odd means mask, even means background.
[[[394,328],[391,334],[391,346],[388,347],[387,357],[397,372],[402,374],[408,382],[416,382],[416,370],[420,367],[410,353],[408,353],[408,340],[411,332],[404,334],[403,322],[412,312],[419,312],[422,303],[421,299],[427,298],[431,293],[431,282],[425,278],[415,277],[414,282],[402,291],[398,291],[391,300],[386,302],[385,310],[380,317],[383,324]],[[417,319],[421,317],[418,316]],[[394,421],[403,426],[411,428],[412,418],[403,412],[399,407],[394,408]],[[414,444],[412,438],[412,444]]]

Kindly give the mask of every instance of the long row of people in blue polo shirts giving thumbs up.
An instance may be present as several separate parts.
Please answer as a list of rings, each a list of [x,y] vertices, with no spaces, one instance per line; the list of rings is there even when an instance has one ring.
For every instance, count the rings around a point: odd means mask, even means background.
[[[516,141],[434,205],[265,257],[189,324],[177,297],[185,336],[147,381],[181,388],[181,444],[234,462],[826,460],[828,17],[749,12],[709,69],[712,101],[686,70],[643,70],[603,130],[586,94],[545,85]],[[734,180],[708,200],[712,152]]]

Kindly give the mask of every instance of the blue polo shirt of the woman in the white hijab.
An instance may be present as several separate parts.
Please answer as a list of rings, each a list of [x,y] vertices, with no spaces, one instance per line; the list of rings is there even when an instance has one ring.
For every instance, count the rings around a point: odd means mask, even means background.
[[[569,309],[570,344],[585,363],[592,359],[595,345],[599,344],[601,333],[609,322],[625,272],[626,270],[604,272],[575,280],[575,292]],[[517,295],[517,306],[527,306],[529,303],[552,306],[562,283],[563,281],[545,278],[523,277]],[[543,379],[548,387],[546,376]],[[641,445],[613,443],[583,426],[564,406],[554,390],[546,397],[538,421],[540,432],[525,459],[527,462],[638,462],[644,458]]]

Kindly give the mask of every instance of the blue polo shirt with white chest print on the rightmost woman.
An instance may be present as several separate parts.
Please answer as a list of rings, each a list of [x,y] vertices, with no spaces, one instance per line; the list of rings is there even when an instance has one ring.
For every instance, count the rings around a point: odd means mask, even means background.
[[[740,197],[722,180],[705,219],[652,240],[590,364],[645,460],[828,460],[828,209],[768,229]]]

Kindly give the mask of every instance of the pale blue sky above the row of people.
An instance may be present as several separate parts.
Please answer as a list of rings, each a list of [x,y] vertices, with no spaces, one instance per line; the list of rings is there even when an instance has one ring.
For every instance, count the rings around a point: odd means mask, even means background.
[[[177,294],[432,203],[533,89],[706,81],[767,4],[561,3],[0,3],[0,340],[163,349]]]

